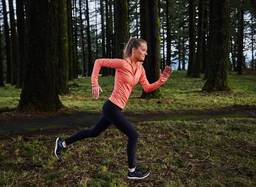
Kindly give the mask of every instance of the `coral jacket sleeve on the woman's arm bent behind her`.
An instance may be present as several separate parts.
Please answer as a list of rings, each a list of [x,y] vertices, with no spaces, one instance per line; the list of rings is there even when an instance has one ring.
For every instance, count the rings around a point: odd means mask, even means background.
[[[124,60],[122,59],[109,59],[109,58],[101,58],[95,60],[94,67],[92,70],[92,87],[98,86],[98,78],[99,78],[99,72],[100,68],[102,66],[108,67],[108,68],[115,68],[116,70],[120,70],[122,66],[124,65]]]

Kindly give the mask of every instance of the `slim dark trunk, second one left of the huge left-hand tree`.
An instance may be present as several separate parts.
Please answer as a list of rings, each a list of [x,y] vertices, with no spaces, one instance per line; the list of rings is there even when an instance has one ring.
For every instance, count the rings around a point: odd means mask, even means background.
[[[18,83],[18,42],[16,34],[16,23],[14,20],[14,9],[13,1],[9,0],[9,16],[10,16],[10,27],[11,27],[11,40],[12,40],[12,85],[17,85]]]

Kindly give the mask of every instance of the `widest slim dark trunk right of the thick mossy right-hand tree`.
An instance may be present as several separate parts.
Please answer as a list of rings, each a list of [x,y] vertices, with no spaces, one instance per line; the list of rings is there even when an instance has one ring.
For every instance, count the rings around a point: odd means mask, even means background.
[[[242,61],[244,49],[244,8],[240,9],[240,22],[238,23],[238,73],[242,74]]]

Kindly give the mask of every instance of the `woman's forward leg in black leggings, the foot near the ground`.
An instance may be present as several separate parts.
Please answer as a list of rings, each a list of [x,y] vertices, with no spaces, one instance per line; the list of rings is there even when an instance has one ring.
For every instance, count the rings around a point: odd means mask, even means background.
[[[107,101],[106,101],[107,102]],[[108,100],[108,102],[111,102]],[[121,112],[121,108],[115,105],[114,103],[110,103],[113,105],[113,110],[109,110],[106,107],[102,107],[102,113],[105,118],[110,121],[112,124],[116,126],[117,129],[122,131],[126,136],[128,136],[128,143],[127,143],[127,156],[128,156],[128,167],[130,169],[135,168],[135,155],[136,155],[136,145],[138,140],[138,133],[126,119],[124,114]]]

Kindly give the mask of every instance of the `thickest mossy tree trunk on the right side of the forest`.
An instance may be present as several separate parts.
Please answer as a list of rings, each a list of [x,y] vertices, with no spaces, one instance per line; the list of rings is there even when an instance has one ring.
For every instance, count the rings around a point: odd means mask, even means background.
[[[229,1],[213,1],[212,32],[209,53],[209,76],[202,91],[228,91]]]

